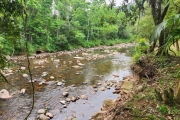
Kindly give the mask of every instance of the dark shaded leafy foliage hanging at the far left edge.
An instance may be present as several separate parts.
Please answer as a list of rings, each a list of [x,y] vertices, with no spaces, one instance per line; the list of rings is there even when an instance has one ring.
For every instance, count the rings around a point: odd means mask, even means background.
[[[20,17],[23,12],[20,0],[0,1],[0,69],[5,67],[6,57],[14,52],[20,38]],[[8,49],[8,50],[7,50]]]

